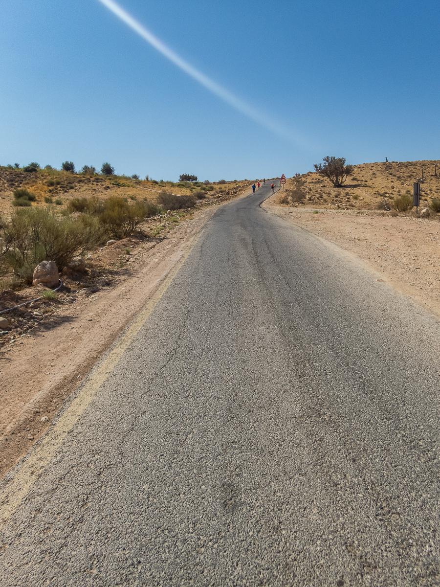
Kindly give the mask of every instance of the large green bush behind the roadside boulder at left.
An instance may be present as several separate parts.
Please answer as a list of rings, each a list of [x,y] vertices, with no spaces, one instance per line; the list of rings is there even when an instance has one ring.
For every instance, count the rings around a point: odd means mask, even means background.
[[[30,268],[33,271],[45,259],[55,261],[61,270],[75,255],[100,244],[104,231],[98,224],[60,218],[50,206],[16,210],[1,230],[5,260],[25,279]]]

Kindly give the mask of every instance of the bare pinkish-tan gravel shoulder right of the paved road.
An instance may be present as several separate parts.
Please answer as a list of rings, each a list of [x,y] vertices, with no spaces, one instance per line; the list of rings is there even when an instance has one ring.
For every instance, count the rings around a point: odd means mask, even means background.
[[[275,193],[262,208],[344,249],[392,288],[440,318],[440,219],[382,215],[374,210],[317,210],[279,205]]]

